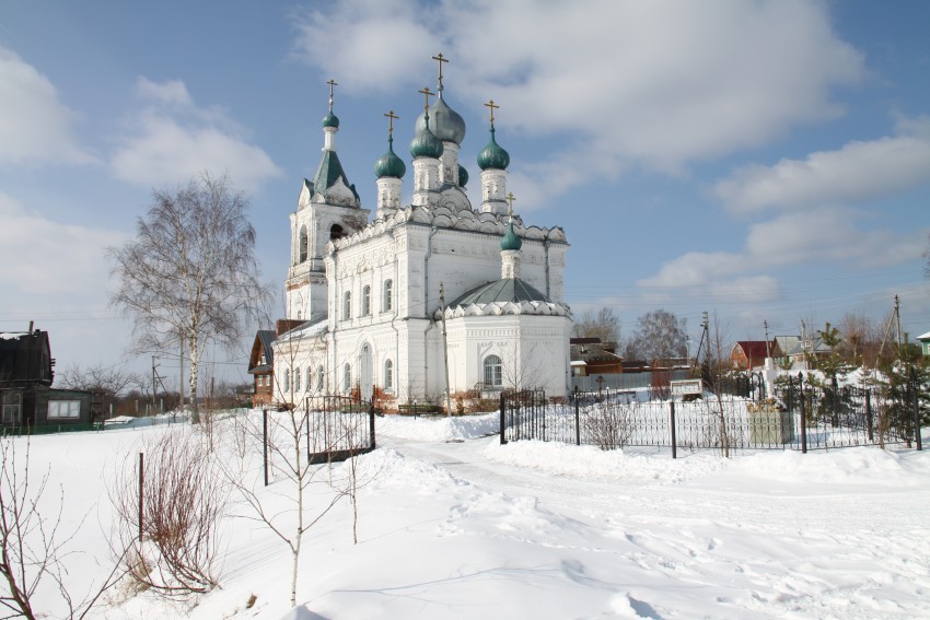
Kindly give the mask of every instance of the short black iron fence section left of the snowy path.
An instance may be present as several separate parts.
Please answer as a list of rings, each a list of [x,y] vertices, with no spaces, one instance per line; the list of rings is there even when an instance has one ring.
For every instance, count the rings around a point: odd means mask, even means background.
[[[348,396],[306,399],[310,463],[338,463],[375,448],[374,405]]]

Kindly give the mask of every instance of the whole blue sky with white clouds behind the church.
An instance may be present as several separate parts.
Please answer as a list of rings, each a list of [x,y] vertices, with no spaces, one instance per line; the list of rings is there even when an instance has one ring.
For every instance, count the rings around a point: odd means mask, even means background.
[[[205,169],[249,194],[280,291],[326,81],[339,156],[373,210],[383,115],[402,117],[409,162],[440,51],[470,192],[493,98],[514,209],[566,230],[576,311],[611,305],[625,335],[660,307],[697,335],[707,311],[760,339],[763,320],[797,334],[802,318],[880,319],[898,294],[903,329],[930,331],[917,0],[0,0],[0,330],[35,320],[59,369],[144,369],[107,307],[103,249],[131,237],[153,187]]]

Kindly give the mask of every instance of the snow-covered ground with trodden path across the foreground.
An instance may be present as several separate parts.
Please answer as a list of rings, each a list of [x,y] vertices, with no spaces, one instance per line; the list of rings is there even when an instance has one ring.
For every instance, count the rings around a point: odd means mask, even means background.
[[[379,449],[358,459],[368,482],[359,542],[342,499],[306,534],[295,609],[288,548],[261,524],[228,517],[219,588],[164,603],[120,586],[90,617],[930,618],[930,452],[673,460],[669,452],[501,446],[489,435],[497,423],[497,414],[379,418]],[[32,440],[33,476],[50,471],[47,506],[63,486],[62,530],[83,518],[66,558],[73,595],[113,565],[117,470],[132,468],[147,437],[188,430]],[[25,441],[14,441],[22,454]],[[346,468],[318,479],[342,479]],[[260,491],[282,519],[292,517],[282,503],[289,484],[275,478]],[[311,493],[313,514],[334,491],[322,483]],[[38,598],[42,609],[53,605],[47,590]]]

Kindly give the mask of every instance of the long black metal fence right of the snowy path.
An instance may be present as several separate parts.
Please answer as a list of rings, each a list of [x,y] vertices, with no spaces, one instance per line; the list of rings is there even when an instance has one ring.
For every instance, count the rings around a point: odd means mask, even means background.
[[[714,396],[685,401],[638,402],[630,391],[574,395],[546,402],[536,390],[500,398],[500,441],[521,440],[594,445],[714,449],[838,448],[905,444],[921,449],[911,391],[829,390],[800,381],[783,386],[783,398]],[[752,389],[755,388],[755,389]],[[912,407],[908,402],[914,403]],[[916,430],[915,430],[916,429]]]

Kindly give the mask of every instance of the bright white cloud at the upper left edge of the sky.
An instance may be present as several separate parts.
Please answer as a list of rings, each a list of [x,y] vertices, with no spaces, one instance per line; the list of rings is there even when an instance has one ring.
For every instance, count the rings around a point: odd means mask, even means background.
[[[0,47],[0,164],[93,162],[74,137],[77,118],[48,78]]]

